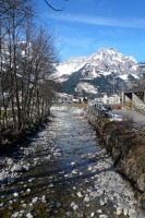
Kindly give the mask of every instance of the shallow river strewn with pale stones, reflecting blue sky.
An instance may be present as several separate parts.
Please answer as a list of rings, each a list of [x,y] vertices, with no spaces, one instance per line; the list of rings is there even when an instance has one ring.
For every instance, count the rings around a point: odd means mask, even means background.
[[[144,217],[83,110],[53,106],[37,135],[1,157],[0,217]]]

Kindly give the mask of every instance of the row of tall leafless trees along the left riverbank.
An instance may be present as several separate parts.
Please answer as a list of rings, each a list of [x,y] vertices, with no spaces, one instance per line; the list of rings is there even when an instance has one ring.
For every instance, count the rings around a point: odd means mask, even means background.
[[[0,4],[0,130],[20,131],[49,114],[53,88],[48,75],[57,52],[51,34],[35,28],[26,0]]]

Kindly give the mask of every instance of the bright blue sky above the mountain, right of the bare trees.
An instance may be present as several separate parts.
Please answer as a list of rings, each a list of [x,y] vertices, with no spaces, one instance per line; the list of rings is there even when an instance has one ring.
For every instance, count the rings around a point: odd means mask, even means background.
[[[145,0],[33,0],[38,25],[53,33],[61,61],[116,48],[145,61]]]

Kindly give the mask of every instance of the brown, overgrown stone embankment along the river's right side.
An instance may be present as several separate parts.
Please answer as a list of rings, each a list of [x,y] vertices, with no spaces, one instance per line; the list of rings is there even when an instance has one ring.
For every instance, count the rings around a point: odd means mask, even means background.
[[[111,154],[117,170],[138,191],[145,209],[145,131],[135,130],[131,121],[109,121],[90,112],[87,118]]]

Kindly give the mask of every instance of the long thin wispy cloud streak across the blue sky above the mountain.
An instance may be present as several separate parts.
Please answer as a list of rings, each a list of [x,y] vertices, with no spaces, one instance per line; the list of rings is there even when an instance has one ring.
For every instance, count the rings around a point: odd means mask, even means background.
[[[60,15],[53,16],[51,19],[72,22],[72,23],[82,23],[99,26],[113,26],[113,27],[130,27],[130,28],[145,28],[145,19],[107,19],[99,16],[86,16],[86,15]]]

